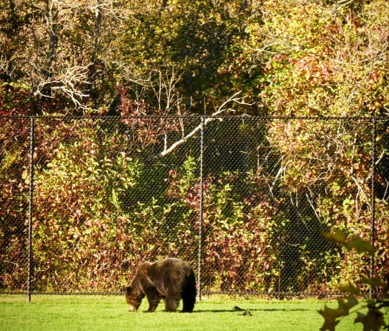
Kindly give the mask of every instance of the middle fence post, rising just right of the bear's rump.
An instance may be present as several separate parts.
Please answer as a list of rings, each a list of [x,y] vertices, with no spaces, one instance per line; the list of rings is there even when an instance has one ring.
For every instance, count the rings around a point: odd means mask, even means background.
[[[197,287],[198,300],[201,301],[201,264],[202,264],[202,218],[203,218],[203,162],[204,151],[204,116],[201,117],[201,131],[200,131],[200,188],[199,188],[199,224],[198,224],[198,270],[197,270]]]

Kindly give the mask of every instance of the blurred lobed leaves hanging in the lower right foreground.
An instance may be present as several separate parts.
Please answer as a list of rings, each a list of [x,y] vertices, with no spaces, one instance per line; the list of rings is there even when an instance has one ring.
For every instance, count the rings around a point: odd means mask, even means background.
[[[323,236],[330,241],[346,247],[349,251],[355,249],[358,253],[373,255],[372,244],[356,235],[346,238],[342,232],[337,231],[335,233],[323,232]],[[384,288],[384,293],[387,293],[388,285],[379,278],[365,278],[363,282],[372,287],[382,287]],[[335,327],[340,323],[341,318],[348,316],[351,313],[357,313],[354,324],[362,323],[363,331],[379,331],[381,330],[381,327],[384,327],[384,330],[389,330],[389,326],[387,326],[384,321],[384,313],[381,312],[381,309],[389,308],[388,299],[368,300],[366,305],[354,312],[350,312],[353,307],[358,305],[359,301],[355,296],[360,294],[361,290],[358,287],[349,284],[347,286],[341,286],[340,291],[348,293],[349,295],[346,300],[338,299],[338,308],[328,308],[327,305],[324,305],[324,309],[318,311],[324,318],[324,324],[320,330],[335,331]],[[368,309],[367,314],[359,312],[366,308]]]

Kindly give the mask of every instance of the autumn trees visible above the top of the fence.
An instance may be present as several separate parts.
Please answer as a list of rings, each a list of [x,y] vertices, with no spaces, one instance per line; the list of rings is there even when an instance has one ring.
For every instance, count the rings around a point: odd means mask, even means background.
[[[1,114],[388,116],[388,3],[0,3]]]

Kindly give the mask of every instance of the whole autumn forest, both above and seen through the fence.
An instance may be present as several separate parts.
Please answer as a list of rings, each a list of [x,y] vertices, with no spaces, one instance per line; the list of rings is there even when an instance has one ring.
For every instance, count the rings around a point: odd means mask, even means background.
[[[1,0],[0,115],[385,119],[388,13],[385,0]],[[126,145],[116,139],[118,132],[93,121],[41,124],[36,136],[43,143],[38,143],[35,160],[36,289],[122,286],[129,266],[156,257],[157,248],[145,238],[169,216],[175,226],[166,229],[159,255],[178,255],[175,240],[189,245],[180,254],[196,251],[196,243],[189,244],[198,229],[193,212],[199,204],[196,159],[187,149],[167,169],[160,161],[167,154],[153,165],[145,157],[155,153],[153,146],[166,137],[166,130],[180,131],[182,122],[172,120],[162,130],[158,121],[124,121],[137,130],[132,147],[128,140]],[[320,247],[303,233],[303,223],[320,219],[329,230],[369,238],[372,125],[274,121],[248,135],[246,127],[235,126],[239,137],[244,133],[254,143],[254,137],[264,138],[277,159],[245,177],[233,166],[207,173],[208,289],[275,291],[285,271],[283,253],[268,240],[288,237],[291,224],[305,238],[293,253],[301,268],[278,290],[334,290],[353,277],[362,283],[360,276],[369,275],[368,258],[336,250],[320,255]],[[2,289],[25,286],[24,246],[9,234],[9,228],[14,234],[25,232],[29,127],[21,127],[1,119],[1,254],[3,261],[13,261],[2,266]],[[388,121],[378,121],[375,129],[375,274],[385,276]],[[232,129],[223,130],[217,139],[228,146],[228,138],[221,137]],[[239,137],[240,146],[246,144]],[[15,146],[15,140],[21,145]],[[129,190],[136,187],[144,194],[150,186],[146,173],[164,184],[129,207]],[[68,189],[70,177],[76,184]],[[234,189],[238,184],[249,187],[249,193]],[[262,191],[270,186],[278,187],[277,194]],[[288,202],[292,194],[294,207]],[[298,196],[309,206],[298,216],[304,220],[300,225],[288,215]],[[172,218],[175,212],[180,219]],[[271,221],[275,218],[279,223]],[[144,232],[130,230],[129,220],[138,220]],[[175,232],[169,234],[172,227]],[[313,255],[310,245],[316,247]]]

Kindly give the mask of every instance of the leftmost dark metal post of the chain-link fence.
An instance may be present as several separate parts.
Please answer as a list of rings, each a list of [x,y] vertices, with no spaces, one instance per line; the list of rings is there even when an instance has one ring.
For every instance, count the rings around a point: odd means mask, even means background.
[[[31,302],[31,276],[32,276],[32,197],[34,180],[34,116],[30,117],[30,177],[29,177],[29,201],[28,201],[28,278],[27,278],[27,303]]]

